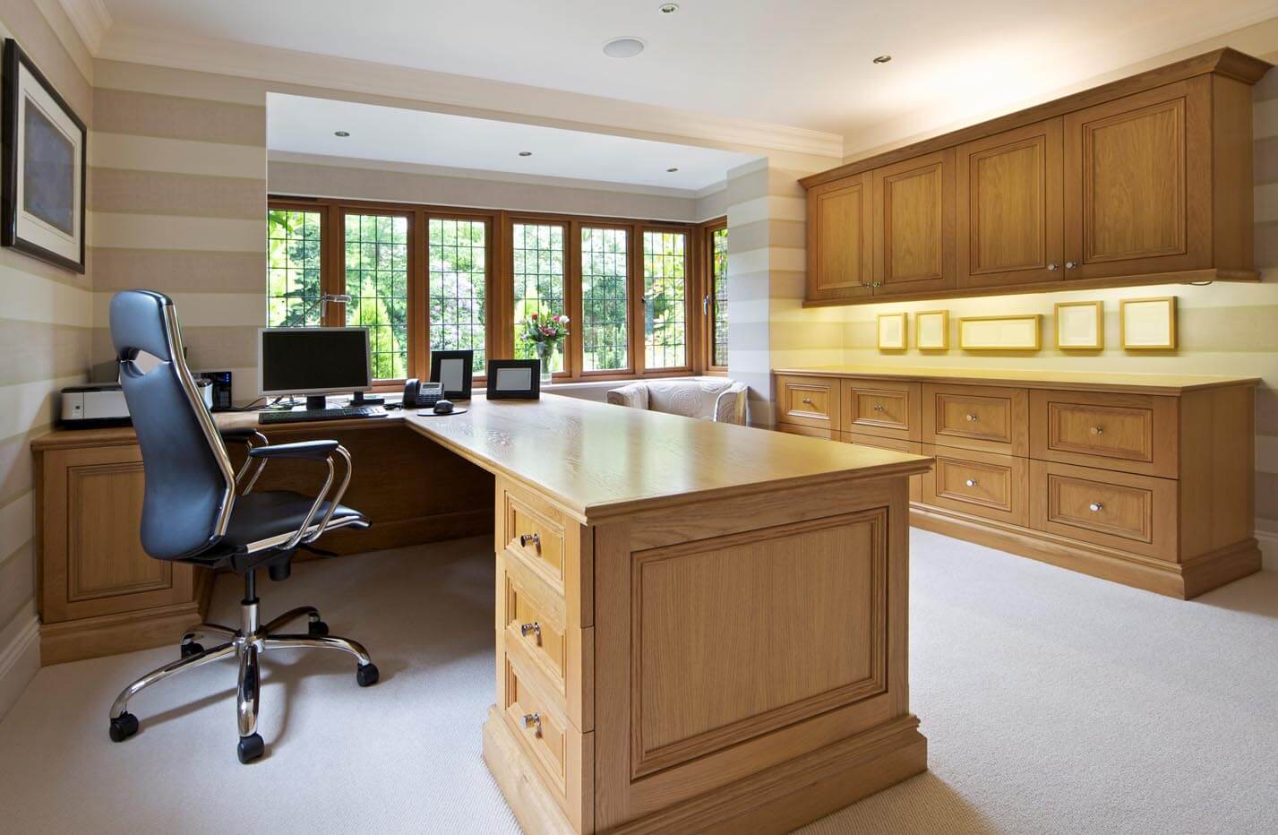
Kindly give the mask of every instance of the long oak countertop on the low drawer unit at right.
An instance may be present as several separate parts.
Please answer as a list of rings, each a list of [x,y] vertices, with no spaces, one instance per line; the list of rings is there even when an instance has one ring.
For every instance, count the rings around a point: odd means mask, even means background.
[[[1132,391],[1139,394],[1181,394],[1197,389],[1256,385],[1259,377],[1217,377],[1208,375],[1109,373],[1091,371],[1033,371],[1012,368],[925,368],[882,366],[812,366],[773,368],[773,373],[822,377],[879,377],[924,382],[1002,382],[1030,389],[1086,389]]]

